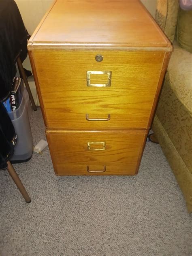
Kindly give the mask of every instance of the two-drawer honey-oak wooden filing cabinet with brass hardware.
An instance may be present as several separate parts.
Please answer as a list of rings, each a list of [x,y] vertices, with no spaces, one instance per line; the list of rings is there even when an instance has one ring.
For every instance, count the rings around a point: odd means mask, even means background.
[[[28,42],[57,175],[135,175],[172,50],[139,0],[57,0]]]

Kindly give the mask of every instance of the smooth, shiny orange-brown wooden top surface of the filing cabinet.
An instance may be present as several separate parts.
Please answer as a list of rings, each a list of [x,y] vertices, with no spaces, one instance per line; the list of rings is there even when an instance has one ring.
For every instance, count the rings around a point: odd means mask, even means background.
[[[139,0],[56,0],[29,45],[171,47]]]

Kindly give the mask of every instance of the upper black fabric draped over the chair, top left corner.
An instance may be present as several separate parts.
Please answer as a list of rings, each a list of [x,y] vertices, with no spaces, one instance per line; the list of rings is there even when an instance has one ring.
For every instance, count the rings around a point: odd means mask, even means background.
[[[14,0],[0,0],[0,101],[8,98],[20,55],[26,59],[28,34]]]

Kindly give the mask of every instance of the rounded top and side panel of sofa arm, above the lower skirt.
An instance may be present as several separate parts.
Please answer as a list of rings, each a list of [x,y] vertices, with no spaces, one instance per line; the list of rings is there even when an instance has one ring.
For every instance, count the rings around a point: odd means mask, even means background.
[[[175,47],[164,79],[156,115],[192,173],[191,53]]]

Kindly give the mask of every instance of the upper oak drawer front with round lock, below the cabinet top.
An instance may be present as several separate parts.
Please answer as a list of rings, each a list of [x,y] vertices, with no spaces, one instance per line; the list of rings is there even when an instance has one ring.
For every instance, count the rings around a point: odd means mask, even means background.
[[[163,52],[36,49],[32,57],[48,128],[148,128]]]

